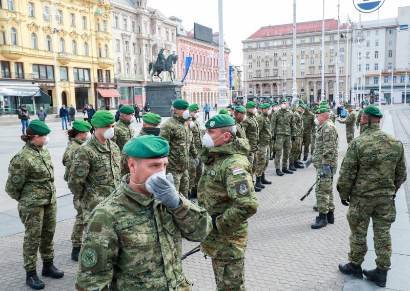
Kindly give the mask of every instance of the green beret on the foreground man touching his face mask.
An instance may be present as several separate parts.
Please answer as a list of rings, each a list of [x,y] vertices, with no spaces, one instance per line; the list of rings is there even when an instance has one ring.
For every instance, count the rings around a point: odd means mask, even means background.
[[[150,134],[131,138],[125,144],[124,151],[135,158],[163,158],[168,156],[170,146],[165,138]]]

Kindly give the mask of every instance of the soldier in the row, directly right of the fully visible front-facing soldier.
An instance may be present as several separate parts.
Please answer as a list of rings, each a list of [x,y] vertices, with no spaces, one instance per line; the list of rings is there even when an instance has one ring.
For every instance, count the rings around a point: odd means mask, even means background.
[[[300,149],[302,148],[303,134],[303,113],[307,110],[304,104],[299,104],[297,110],[293,113],[293,119],[296,126],[296,139],[292,141],[291,154],[289,156],[289,170],[303,169],[303,165],[299,164]]]

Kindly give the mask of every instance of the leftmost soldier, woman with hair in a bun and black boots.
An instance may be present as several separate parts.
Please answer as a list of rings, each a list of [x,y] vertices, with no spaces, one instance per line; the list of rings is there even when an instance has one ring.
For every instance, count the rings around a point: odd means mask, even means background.
[[[61,278],[53,264],[53,238],[57,222],[57,205],[54,185],[54,167],[48,149],[46,123],[35,119],[26,128],[21,139],[26,142],[10,161],[6,192],[18,201],[18,215],[26,229],[23,243],[23,267],[26,284],[43,289],[44,282],[37,276],[37,250],[43,260],[42,276]]]

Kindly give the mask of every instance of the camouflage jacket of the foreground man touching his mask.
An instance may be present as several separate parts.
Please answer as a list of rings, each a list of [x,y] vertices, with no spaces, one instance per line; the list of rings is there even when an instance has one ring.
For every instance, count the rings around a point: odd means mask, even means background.
[[[76,289],[191,290],[182,270],[182,237],[203,240],[212,230],[211,217],[182,196],[182,204],[170,210],[132,190],[129,175],[125,179],[88,220]]]

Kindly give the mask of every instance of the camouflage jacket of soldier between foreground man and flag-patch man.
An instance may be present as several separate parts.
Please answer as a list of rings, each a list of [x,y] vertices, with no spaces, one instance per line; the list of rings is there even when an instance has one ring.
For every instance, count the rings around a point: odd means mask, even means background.
[[[176,171],[188,170],[189,155],[197,157],[194,143],[189,140],[188,124],[184,119],[173,113],[161,126],[159,136],[164,137],[170,144],[168,169]]]

